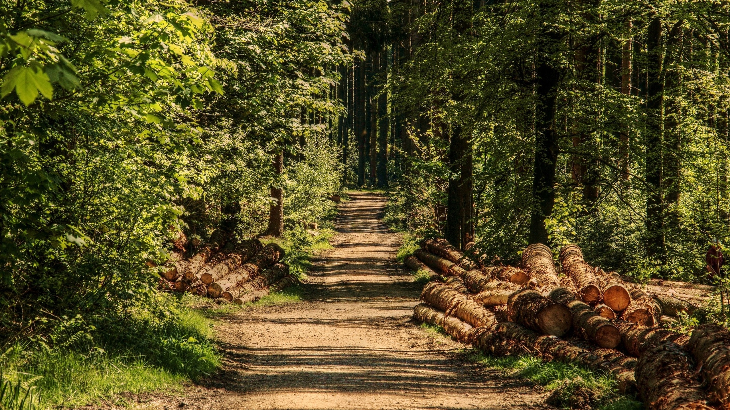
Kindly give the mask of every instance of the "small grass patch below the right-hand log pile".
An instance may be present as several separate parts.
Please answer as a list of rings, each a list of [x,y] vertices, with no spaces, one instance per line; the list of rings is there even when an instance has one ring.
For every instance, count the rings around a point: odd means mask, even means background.
[[[531,356],[493,357],[475,351],[466,352],[466,357],[469,361],[537,382],[550,392],[548,403],[559,409],[644,409],[635,398],[618,393],[612,376],[575,363],[545,362]]]

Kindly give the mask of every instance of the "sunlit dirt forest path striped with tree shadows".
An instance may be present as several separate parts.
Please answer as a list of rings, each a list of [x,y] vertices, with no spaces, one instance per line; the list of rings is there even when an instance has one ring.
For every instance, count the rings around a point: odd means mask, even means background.
[[[529,382],[464,361],[463,348],[411,321],[421,286],[397,263],[386,199],[354,193],[334,249],[302,301],[256,306],[216,325],[223,370],[192,387],[193,409],[545,409]],[[168,403],[169,405],[169,403]],[[173,406],[175,406],[173,404]]]

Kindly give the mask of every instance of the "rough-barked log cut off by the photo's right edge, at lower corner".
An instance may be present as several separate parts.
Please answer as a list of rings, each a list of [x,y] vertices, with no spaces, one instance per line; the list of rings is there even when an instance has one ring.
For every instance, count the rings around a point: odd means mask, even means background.
[[[730,409],[730,332],[714,323],[700,325],[692,332],[687,349],[702,365],[710,397]]]

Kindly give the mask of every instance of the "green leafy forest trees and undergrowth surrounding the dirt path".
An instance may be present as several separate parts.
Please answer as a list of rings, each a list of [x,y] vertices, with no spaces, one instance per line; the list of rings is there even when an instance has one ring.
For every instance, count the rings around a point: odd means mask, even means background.
[[[406,245],[717,286],[692,320],[727,326],[729,32],[705,0],[4,1],[0,387],[211,374],[200,300],[161,292],[180,238],[301,276],[347,190]]]

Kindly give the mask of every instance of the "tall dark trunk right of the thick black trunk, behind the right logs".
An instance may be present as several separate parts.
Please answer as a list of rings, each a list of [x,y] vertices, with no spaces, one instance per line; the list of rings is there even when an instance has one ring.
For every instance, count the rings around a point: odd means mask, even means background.
[[[648,87],[646,124],[646,201],[647,252],[664,264],[664,201],[662,198],[662,120],[664,109],[664,79],[662,78],[661,20],[653,16],[648,30]]]

